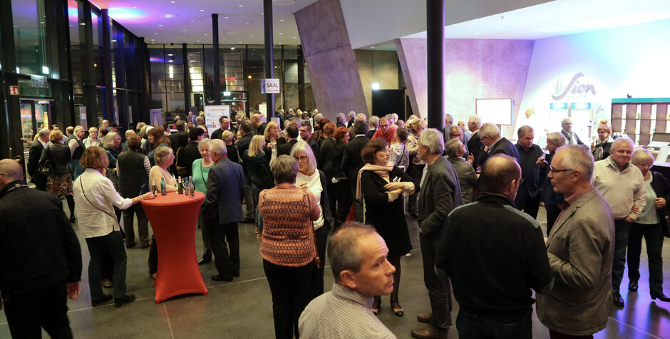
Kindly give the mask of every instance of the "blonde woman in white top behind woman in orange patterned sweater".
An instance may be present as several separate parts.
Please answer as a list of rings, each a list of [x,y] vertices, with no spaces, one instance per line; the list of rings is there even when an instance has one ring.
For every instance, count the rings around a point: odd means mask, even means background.
[[[319,219],[314,221],[314,236],[316,238],[316,249],[321,261],[326,258],[326,239],[330,229],[330,207],[328,202],[328,193],[326,192],[326,174],[316,169],[316,158],[314,152],[307,142],[301,141],[291,149],[291,156],[298,160],[298,174],[296,177],[296,186],[298,188],[309,189],[316,198],[316,204],[319,205]],[[324,274],[324,265],[321,265],[321,275]],[[323,280],[320,281],[320,293],[324,293]],[[319,293],[319,294],[320,294]]]

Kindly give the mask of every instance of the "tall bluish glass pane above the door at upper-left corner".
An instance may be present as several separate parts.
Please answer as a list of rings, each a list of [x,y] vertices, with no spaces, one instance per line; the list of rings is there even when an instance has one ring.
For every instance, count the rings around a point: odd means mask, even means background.
[[[11,0],[16,44],[16,72],[50,74],[43,0]]]

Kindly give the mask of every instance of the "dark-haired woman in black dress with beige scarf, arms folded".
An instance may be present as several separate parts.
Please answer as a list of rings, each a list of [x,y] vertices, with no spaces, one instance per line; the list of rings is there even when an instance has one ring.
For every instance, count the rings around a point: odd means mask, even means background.
[[[388,246],[388,262],[396,267],[393,273],[391,308],[398,317],[403,308],[398,303],[400,288],[400,259],[412,249],[407,220],[403,211],[403,193],[412,194],[412,177],[388,161],[388,144],[383,139],[373,139],[363,147],[361,160],[364,166],[359,171],[356,183],[356,199],[364,199],[365,222],[371,224]],[[377,314],[381,296],[375,296],[372,312]]]

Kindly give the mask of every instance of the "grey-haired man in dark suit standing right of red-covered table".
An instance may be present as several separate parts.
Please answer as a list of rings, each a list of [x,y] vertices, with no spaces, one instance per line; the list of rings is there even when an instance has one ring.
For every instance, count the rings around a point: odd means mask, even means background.
[[[210,143],[215,165],[207,174],[207,195],[202,203],[205,227],[209,228],[214,263],[218,274],[214,281],[232,281],[239,276],[239,234],[237,221],[242,219],[244,199],[244,171],[242,165],[227,157],[223,140]],[[230,246],[230,254],[226,246]]]

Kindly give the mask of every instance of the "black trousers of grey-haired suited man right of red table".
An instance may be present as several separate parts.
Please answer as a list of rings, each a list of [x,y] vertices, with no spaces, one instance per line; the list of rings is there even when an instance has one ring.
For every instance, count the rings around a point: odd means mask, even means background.
[[[239,233],[237,221],[230,224],[219,224],[217,220],[209,221],[210,241],[214,264],[219,276],[230,279],[239,276]],[[227,243],[227,244],[226,244]],[[230,247],[230,252],[228,251]]]

